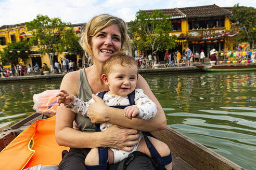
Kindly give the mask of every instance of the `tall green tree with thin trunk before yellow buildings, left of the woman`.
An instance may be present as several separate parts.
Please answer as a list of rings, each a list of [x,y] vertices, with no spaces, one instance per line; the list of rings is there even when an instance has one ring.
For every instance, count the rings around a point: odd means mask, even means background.
[[[60,18],[49,18],[43,15],[37,15],[36,18],[27,23],[27,25],[33,35],[29,40],[29,44],[32,45],[36,40],[39,40],[38,47],[48,54],[50,69],[51,72],[53,72],[54,66],[50,53],[61,53],[66,50],[67,41],[65,37],[67,37],[67,34],[70,34],[72,25],[62,22]]]

